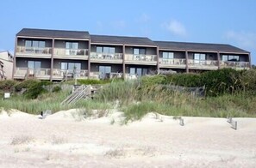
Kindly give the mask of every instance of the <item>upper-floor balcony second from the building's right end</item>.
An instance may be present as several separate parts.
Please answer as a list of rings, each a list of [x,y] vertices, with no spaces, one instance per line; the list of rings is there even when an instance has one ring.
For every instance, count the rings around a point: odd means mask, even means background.
[[[189,59],[189,68],[192,69],[218,69],[216,60],[195,60]]]

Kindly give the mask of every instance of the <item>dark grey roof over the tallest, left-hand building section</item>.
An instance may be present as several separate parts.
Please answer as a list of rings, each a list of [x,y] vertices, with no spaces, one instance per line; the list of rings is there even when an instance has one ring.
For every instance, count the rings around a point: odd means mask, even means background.
[[[47,30],[23,28],[16,36],[45,37],[45,38],[65,38],[65,39],[90,39],[90,34],[86,31],[67,30]]]

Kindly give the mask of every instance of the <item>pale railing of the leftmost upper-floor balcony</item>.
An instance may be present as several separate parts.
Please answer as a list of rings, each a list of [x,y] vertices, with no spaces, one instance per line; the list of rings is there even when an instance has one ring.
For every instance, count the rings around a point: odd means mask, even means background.
[[[17,53],[25,53],[25,54],[52,54],[52,48],[50,47],[26,47],[26,46],[17,46]]]

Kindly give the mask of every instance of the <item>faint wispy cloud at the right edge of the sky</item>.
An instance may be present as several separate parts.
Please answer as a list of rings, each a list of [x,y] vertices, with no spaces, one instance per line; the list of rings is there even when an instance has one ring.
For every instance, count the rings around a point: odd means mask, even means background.
[[[230,41],[234,41],[242,47],[256,49],[256,33],[245,31],[235,32],[230,30],[225,33],[225,38]]]

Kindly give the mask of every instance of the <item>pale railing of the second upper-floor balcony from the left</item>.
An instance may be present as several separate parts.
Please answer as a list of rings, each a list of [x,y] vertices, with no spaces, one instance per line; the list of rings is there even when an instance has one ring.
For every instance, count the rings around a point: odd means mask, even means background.
[[[55,48],[54,54],[59,56],[88,56],[88,49]]]

